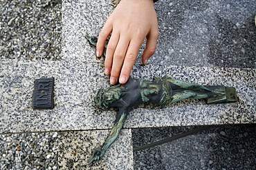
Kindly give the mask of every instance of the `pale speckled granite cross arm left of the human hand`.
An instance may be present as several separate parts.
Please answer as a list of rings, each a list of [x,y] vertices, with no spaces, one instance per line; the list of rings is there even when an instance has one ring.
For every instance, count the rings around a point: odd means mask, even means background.
[[[85,35],[98,35],[112,11],[109,0],[62,1],[62,60],[102,62]]]

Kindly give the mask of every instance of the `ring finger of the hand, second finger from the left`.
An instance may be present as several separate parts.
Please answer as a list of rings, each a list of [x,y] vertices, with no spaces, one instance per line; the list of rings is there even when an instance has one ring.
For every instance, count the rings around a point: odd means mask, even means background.
[[[109,39],[109,44],[107,45],[106,59],[105,59],[105,69],[104,73],[109,75],[111,72],[111,67],[113,63],[113,54],[116,50],[116,46],[119,41],[119,33],[112,32],[111,37]]]

